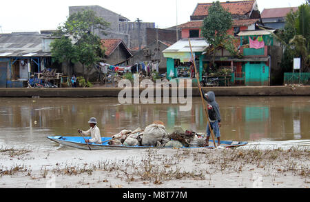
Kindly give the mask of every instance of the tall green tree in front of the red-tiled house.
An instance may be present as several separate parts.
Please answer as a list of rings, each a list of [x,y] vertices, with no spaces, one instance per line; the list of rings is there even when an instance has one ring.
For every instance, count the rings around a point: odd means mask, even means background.
[[[219,46],[227,46],[231,41],[231,36],[227,31],[232,27],[232,18],[228,10],[225,10],[220,1],[213,2],[209,7],[208,16],[203,20],[201,32],[209,46],[213,48],[212,64],[215,66],[216,48]],[[231,47],[227,49],[232,50]]]

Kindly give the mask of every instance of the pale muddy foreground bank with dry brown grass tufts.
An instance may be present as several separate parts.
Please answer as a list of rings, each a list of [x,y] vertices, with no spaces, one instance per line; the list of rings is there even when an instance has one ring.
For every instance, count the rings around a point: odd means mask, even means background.
[[[309,188],[309,150],[0,150],[0,188]]]

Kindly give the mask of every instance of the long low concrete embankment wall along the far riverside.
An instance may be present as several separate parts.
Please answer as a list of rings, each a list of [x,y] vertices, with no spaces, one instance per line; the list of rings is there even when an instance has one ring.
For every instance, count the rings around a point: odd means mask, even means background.
[[[121,88],[0,88],[0,97],[118,97]],[[143,92],[144,88],[139,91]],[[169,88],[169,97],[175,88]],[[190,89],[189,89],[190,90]],[[310,96],[310,86],[290,88],[272,87],[218,87],[203,88],[204,92],[214,91],[216,96]],[[178,91],[178,90],[177,90]],[[187,89],[183,90],[187,95]],[[162,89],[161,96],[163,97]],[[192,88],[193,97],[199,97],[198,88]],[[156,91],[154,90],[154,96]],[[134,97],[134,90],[132,90]]]

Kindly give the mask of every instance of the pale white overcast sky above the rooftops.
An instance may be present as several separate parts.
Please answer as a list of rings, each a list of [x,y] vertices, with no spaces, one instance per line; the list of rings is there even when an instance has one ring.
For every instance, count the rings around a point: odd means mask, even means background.
[[[222,1],[222,0],[221,0]],[[155,22],[158,28],[189,21],[197,3],[210,3],[208,0],[1,0],[0,33],[55,30],[69,14],[69,6],[98,5],[127,17],[144,22]],[[177,2],[177,3],[176,3]],[[300,6],[305,0],[258,0],[260,12],[264,8]],[[177,6],[176,6],[177,4]]]

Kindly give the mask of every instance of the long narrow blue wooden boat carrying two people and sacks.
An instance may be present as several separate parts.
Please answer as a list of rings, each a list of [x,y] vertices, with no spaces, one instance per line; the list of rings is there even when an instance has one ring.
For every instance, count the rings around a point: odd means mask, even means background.
[[[107,142],[102,144],[96,144],[96,143],[85,143],[83,137],[62,137],[62,136],[49,136],[48,139],[51,141],[55,141],[56,143],[59,143],[61,145],[65,145],[72,148],[78,148],[82,150],[89,150],[88,145],[92,150],[128,150],[128,149],[165,149],[165,148],[156,148],[156,147],[144,147],[144,146],[124,146],[124,145],[109,145]],[[85,139],[90,139],[90,137],[85,137]],[[108,141],[112,138],[110,137],[102,137],[101,140]],[[218,141],[216,141],[218,143]],[[224,148],[238,148],[244,145],[247,145],[247,142],[240,142],[240,141],[220,141],[221,146]],[[209,141],[209,147],[205,147],[207,149],[214,149],[214,143],[213,141]],[[167,149],[167,148],[166,148]],[[194,149],[194,148],[189,148]]]

